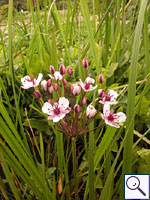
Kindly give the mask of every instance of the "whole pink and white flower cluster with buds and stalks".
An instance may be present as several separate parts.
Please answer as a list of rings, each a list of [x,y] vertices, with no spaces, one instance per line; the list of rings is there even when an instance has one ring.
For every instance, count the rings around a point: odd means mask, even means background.
[[[50,66],[48,80],[42,80],[40,73],[38,78],[25,76],[21,78],[22,88],[33,88],[34,97],[43,102],[42,94],[45,94],[47,101],[42,103],[42,112],[47,114],[48,120],[52,120],[56,126],[66,136],[75,137],[84,134],[88,129],[88,124],[100,114],[104,124],[119,128],[118,123],[125,122],[126,115],[122,112],[114,113],[112,105],[117,104],[118,93],[114,90],[109,92],[102,88],[98,90],[98,98],[95,102],[89,102],[86,99],[88,92],[93,92],[97,85],[95,80],[87,76],[88,61],[83,59],[82,65],[85,68],[85,80],[79,79],[73,83],[73,70],[61,64],[59,71],[55,71]],[[66,80],[66,74],[69,75],[70,84]],[[102,87],[104,77],[102,74],[98,77],[98,82]],[[41,87],[39,87],[39,85]],[[99,106],[101,105],[101,106]]]

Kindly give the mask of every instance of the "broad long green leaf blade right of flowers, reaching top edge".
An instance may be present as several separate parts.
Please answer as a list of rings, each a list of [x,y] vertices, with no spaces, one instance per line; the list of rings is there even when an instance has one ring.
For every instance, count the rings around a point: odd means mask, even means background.
[[[141,43],[142,25],[144,21],[144,13],[147,0],[141,1],[138,22],[136,25],[135,36],[132,47],[131,66],[129,74],[128,102],[127,102],[127,122],[126,122],[126,142],[123,154],[123,174],[130,174],[132,168],[132,145],[133,145],[133,129],[135,115],[135,94],[136,94],[136,74],[138,66],[138,54]],[[127,132],[127,130],[129,131]],[[123,197],[123,194],[122,194]]]

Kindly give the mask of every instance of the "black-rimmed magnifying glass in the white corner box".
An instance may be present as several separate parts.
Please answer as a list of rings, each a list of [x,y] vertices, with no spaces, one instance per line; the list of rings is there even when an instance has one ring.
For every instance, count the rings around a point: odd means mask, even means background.
[[[130,176],[129,178],[127,178],[126,186],[130,190],[137,190],[138,189],[144,196],[146,196],[145,192],[143,192],[143,190],[140,188],[140,180],[139,180],[138,177]]]

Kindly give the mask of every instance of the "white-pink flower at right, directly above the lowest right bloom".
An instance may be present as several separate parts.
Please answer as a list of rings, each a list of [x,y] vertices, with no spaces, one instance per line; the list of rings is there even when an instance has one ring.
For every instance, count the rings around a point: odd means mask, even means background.
[[[99,90],[99,93],[100,93],[100,90]],[[106,93],[102,94],[102,100],[100,100],[99,103],[109,104],[109,105],[117,104],[118,103],[116,101],[117,97],[118,97],[118,93],[114,90],[110,90],[108,94]]]

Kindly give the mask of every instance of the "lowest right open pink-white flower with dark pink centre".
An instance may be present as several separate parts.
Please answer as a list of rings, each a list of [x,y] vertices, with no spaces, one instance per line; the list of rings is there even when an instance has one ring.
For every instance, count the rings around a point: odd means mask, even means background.
[[[101,113],[101,117],[105,120],[106,124],[116,128],[120,128],[117,123],[126,121],[126,115],[123,112],[114,114],[114,110],[110,110],[109,104],[104,104],[103,114]]]

